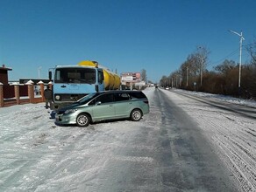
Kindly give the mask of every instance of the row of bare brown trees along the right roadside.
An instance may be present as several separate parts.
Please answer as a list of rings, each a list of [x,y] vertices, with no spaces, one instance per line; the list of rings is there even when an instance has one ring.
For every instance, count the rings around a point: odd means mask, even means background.
[[[198,46],[177,71],[160,79],[160,86],[256,99],[256,40],[244,47],[251,59],[240,70],[238,63],[225,59],[209,71],[206,67],[210,51]]]

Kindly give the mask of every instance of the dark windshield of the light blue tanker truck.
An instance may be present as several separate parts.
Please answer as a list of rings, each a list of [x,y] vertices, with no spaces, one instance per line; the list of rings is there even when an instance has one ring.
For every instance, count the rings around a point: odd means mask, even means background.
[[[96,70],[89,68],[59,68],[55,71],[54,82],[95,84]]]

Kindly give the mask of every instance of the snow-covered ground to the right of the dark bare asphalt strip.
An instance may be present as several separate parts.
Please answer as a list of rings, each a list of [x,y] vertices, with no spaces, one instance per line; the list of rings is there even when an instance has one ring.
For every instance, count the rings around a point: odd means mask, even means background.
[[[166,92],[166,90],[164,90]],[[256,106],[254,100],[237,99],[210,93],[187,92],[174,89],[174,93],[188,93],[230,104]],[[256,120],[239,113],[221,110],[181,95],[167,93],[170,99],[196,120],[203,134],[235,177],[243,191],[256,191]],[[254,108],[254,113],[256,109]],[[255,117],[255,116],[254,116]]]

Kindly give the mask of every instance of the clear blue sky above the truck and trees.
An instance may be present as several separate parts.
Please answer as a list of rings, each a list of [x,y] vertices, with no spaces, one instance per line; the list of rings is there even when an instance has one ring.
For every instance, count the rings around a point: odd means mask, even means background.
[[[96,60],[110,70],[158,82],[203,45],[211,70],[238,62],[256,37],[255,0],[0,0],[0,65],[10,80],[46,79],[54,65]],[[243,62],[249,59],[243,51]]]

